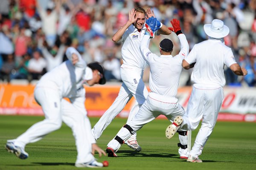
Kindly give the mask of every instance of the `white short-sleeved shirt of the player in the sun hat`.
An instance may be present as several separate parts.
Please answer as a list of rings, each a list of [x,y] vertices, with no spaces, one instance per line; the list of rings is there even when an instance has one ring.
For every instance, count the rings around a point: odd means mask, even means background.
[[[230,67],[236,63],[231,48],[218,39],[209,39],[194,45],[185,60],[189,64],[196,62],[191,81],[208,85],[208,88],[223,87],[226,83],[224,65]]]

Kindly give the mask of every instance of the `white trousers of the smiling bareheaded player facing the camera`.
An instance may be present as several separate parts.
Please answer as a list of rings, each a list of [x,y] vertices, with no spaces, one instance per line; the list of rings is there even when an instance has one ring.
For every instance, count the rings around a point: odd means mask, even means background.
[[[108,127],[113,119],[125,108],[125,105],[132,96],[136,99],[136,103],[130,111],[127,123],[134,118],[134,115],[139,111],[140,106],[145,102],[148,96],[148,90],[142,80],[143,69],[131,66],[126,68],[125,65],[122,65],[120,74],[123,83],[118,96],[92,129],[95,139],[99,139],[106,127]],[[136,134],[134,137],[136,138]]]

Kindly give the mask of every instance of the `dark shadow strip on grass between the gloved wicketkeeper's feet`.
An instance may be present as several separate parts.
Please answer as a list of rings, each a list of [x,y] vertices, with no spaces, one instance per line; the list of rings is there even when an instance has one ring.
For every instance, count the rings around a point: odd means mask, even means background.
[[[152,152],[152,153],[148,154],[148,152]],[[118,157],[140,156],[140,157],[171,158],[173,156],[177,156],[176,154],[156,153],[154,151],[148,151],[148,150],[145,150],[145,151],[142,151],[142,152],[136,152],[136,151],[133,151],[133,150],[120,150],[118,153],[117,153]]]

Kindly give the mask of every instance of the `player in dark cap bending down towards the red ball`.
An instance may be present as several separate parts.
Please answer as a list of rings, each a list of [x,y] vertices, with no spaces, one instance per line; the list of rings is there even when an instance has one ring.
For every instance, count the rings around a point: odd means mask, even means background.
[[[45,119],[38,122],[16,139],[8,140],[6,149],[20,159],[28,158],[26,144],[37,142],[47,134],[58,130],[62,121],[73,131],[76,141],[76,167],[103,167],[93,154],[106,153],[96,145],[91,134],[91,125],[84,107],[85,89],[83,84],[105,84],[104,71],[97,62],[86,65],[75,48],[67,48],[68,60],[44,74],[35,86],[34,96],[41,105]],[[63,99],[67,97],[70,102]]]

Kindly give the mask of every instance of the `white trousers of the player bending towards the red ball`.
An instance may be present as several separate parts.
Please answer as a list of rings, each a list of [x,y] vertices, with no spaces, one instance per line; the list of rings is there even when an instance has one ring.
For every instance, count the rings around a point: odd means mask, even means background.
[[[58,89],[36,87],[34,91],[35,100],[41,105],[45,119],[32,125],[25,133],[14,139],[14,144],[25,147],[26,144],[37,142],[47,134],[58,130],[62,120],[73,131],[76,141],[77,160],[76,163],[86,163],[94,160],[92,150],[91,125],[84,108],[85,90],[83,88],[81,97],[71,99],[67,102],[59,95]]]

